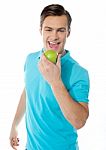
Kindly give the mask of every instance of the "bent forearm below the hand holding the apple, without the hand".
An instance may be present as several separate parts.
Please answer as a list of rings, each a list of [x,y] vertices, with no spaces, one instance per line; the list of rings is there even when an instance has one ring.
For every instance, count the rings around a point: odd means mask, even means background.
[[[65,118],[75,128],[81,128],[88,118],[88,109],[72,99],[61,80],[52,84],[52,90]]]

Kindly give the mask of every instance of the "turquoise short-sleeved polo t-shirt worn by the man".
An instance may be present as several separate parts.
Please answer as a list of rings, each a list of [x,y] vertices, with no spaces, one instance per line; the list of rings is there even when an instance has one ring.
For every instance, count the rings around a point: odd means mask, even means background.
[[[29,54],[25,63],[26,148],[78,150],[77,130],[64,117],[50,85],[39,71],[41,54],[42,51]],[[75,101],[88,103],[88,73],[71,58],[69,51],[61,57],[61,78]]]

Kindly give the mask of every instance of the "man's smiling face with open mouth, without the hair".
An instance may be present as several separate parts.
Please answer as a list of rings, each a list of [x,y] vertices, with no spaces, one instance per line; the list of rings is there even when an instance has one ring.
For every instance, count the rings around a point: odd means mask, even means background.
[[[61,53],[64,50],[66,38],[69,36],[66,16],[46,17],[42,24],[41,35],[44,49],[53,49]]]

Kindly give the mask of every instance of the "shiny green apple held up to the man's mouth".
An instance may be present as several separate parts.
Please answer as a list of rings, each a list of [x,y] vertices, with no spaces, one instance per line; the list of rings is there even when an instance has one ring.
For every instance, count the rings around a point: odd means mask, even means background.
[[[58,53],[52,49],[44,51],[44,54],[48,60],[56,64]]]

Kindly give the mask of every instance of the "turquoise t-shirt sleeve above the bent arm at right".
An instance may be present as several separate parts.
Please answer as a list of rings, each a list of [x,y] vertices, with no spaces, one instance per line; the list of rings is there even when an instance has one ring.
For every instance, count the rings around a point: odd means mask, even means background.
[[[75,66],[72,76],[73,84],[69,90],[70,95],[77,102],[88,103],[90,86],[88,71],[82,67]]]

